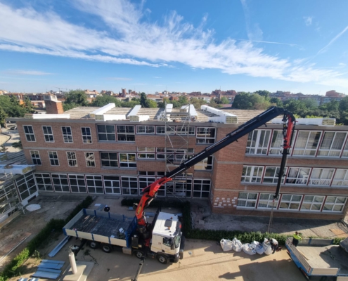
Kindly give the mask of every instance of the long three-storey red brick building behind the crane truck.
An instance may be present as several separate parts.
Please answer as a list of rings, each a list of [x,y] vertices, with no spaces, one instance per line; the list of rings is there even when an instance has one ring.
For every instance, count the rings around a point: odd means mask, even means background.
[[[261,113],[224,110],[237,115],[238,123],[223,124],[212,122],[213,113],[197,110],[193,121],[183,124],[179,118],[165,122],[160,118],[164,110],[158,108],[141,108],[139,120],[148,116],[143,122],[129,119],[129,108],[91,114],[97,109],[77,107],[64,112],[69,119],[49,119],[49,115],[11,119],[17,122],[28,164],[37,165],[34,176],[39,190],[140,195],[166,169],[174,169]],[[254,130],[176,177],[158,196],[210,200],[214,213],[269,216],[273,205],[273,216],[343,218],[348,197],[348,126],[297,124],[281,195],[273,203],[281,129],[281,124],[269,122]],[[183,138],[187,148],[179,145]]]

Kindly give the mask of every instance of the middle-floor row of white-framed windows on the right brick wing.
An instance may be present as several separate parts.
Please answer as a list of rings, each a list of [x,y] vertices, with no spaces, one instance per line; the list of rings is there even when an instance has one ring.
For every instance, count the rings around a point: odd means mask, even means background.
[[[277,183],[280,168],[243,166],[242,183]],[[282,183],[314,186],[348,186],[348,169],[288,167]]]

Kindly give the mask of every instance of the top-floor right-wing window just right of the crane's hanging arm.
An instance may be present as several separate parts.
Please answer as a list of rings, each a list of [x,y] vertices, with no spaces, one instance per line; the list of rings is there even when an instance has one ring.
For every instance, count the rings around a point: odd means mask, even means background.
[[[315,156],[320,136],[320,131],[299,131],[293,155]]]

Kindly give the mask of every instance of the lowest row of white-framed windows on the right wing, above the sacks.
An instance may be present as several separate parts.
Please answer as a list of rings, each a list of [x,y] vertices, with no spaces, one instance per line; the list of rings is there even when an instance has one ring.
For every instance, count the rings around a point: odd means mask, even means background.
[[[342,212],[347,197],[326,195],[282,194],[273,200],[273,194],[239,192],[238,207],[248,209],[273,209],[288,211]]]

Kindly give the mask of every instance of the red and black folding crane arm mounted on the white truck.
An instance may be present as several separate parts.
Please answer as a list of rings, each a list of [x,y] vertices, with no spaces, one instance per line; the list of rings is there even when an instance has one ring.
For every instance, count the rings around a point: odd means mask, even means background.
[[[174,178],[174,176],[176,176],[177,174],[186,171],[187,169],[191,168],[191,166],[194,166],[198,162],[221,150],[222,148],[225,148],[227,145],[233,143],[234,141],[237,141],[239,138],[242,138],[243,136],[247,135],[247,133],[250,133],[254,129],[259,128],[259,126],[266,124],[266,122],[271,121],[271,119],[276,118],[279,115],[283,115],[284,149],[281,161],[281,169],[278,175],[276,195],[274,196],[275,198],[278,198],[279,190],[281,188],[281,179],[283,176],[283,171],[288,155],[288,150],[291,147],[293,131],[295,130],[295,117],[294,115],[292,115],[291,112],[288,112],[288,110],[285,110],[281,107],[270,107],[262,114],[257,115],[257,117],[254,117],[250,119],[248,122],[244,123],[243,125],[240,125],[238,129],[236,129],[235,131],[228,133],[228,135],[226,135],[224,138],[221,138],[221,140],[217,141],[217,143],[208,146],[207,148],[205,148],[205,150],[202,150],[197,155],[193,156],[191,159],[186,160],[173,171],[169,171],[167,174],[165,174],[165,176],[163,176],[159,180],[155,181],[154,183],[151,183],[146,188],[143,188],[143,196],[141,197],[141,200],[138,203],[138,207],[136,208],[136,218],[138,219],[138,225],[146,226],[144,209],[146,209],[150,202],[156,197],[157,191],[160,189],[162,185],[164,185],[168,181],[172,181],[172,178]]]

